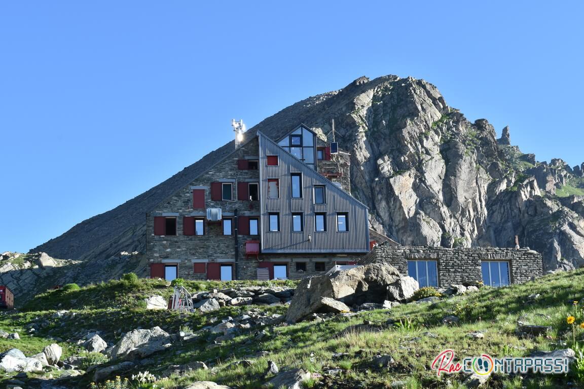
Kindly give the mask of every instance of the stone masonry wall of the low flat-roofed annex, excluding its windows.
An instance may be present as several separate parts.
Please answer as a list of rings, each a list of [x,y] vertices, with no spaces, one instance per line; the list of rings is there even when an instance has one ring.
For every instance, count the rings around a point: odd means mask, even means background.
[[[543,275],[541,254],[529,248],[395,247],[384,243],[376,246],[359,263],[387,261],[402,274],[408,274],[408,260],[436,261],[441,288],[452,283],[481,280],[481,261],[509,262],[511,283],[522,283]]]

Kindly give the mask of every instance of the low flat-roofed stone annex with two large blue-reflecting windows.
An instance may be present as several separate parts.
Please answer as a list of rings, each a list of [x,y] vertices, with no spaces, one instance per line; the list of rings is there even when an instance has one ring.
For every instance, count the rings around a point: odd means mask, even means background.
[[[359,264],[388,262],[420,286],[447,288],[451,284],[484,282],[489,286],[522,283],[543,274],[541,254],[529,248],[376,246]]]

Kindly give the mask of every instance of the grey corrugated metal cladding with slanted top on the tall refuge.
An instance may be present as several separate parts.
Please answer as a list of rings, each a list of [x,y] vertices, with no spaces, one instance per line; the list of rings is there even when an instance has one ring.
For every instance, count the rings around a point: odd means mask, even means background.
[[[259,179],[262,253],[367,253],[369,220],[367,206],[331,181],[259,135]],[[267,155],[277,155],[277,166],[267,166]],[[302,173],[302,198],[291,198],[290,173]],[[267,180],[280,180],[280,197],[267,198]],[[314,204],[314,185],[324,185],[326,204]],[[269,232],[268,212],[280,213],[280,232]],[[303,232],[292,231],[292,213],[303,212]],[[315,232],[314,212],[326,212],[326,232]],[[337,232],[336,213],[346,212],[348,232]],[[308,240],[308,236],[311,240]]]

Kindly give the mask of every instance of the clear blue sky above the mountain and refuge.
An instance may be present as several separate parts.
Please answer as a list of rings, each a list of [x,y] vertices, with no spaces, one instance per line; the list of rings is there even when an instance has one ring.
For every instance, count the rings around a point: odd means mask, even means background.
[[[582,163],[584,3],[483,3],[1,2],[0,252],[148,190],[231,118],[362,75],[426,79],[538,160]]]

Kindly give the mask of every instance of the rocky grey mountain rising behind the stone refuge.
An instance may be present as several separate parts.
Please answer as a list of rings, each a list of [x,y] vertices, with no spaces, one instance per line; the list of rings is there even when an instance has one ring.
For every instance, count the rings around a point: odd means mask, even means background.
[[[520,246],[544,254],[546,269],[584,264],[584,212],[576,205],[582,199],[567,206],[554,197],[566,184],[582,186],[575,181],[582,166],[571,169],[559,159],[534,166],[533,156],[510,146],[508,128],[496,139],[488,121],[468,121],[424,80],[360,78],[299,101],[248,133],[276,139],[304,122],[330,142],[332,118],[340,148],[350,153],[352,194],[369,206],[378,232],[405,246],[515,247],[517,235]],[[117,264],[123,251],[144,251],[144,213],[233,148],[230,142],[214,150],[33,251],[95,271],[105,261]],[[542,171],[530,170],[540,165]]]

